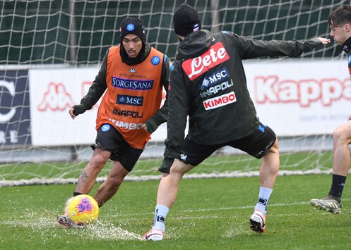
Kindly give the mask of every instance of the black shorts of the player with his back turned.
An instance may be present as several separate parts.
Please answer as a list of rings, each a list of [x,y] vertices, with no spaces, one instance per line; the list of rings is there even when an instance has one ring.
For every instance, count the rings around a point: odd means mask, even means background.
[[[223,144],[197,144],[187,136],[182,144],[179,160],[186,164],[198,165],[223,146],[232,146],[259,159],[268,153],[276,139],[273,130],[262,123],[258,123],[257,130],[252,132],[251,135]]]

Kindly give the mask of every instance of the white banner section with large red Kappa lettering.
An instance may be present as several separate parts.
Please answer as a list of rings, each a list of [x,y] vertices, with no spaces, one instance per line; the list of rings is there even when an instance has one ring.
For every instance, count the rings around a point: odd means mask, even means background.
[[[258,117],[278,136],[331,134],[351,115],[347,61],[246,62],[244,68]]]

